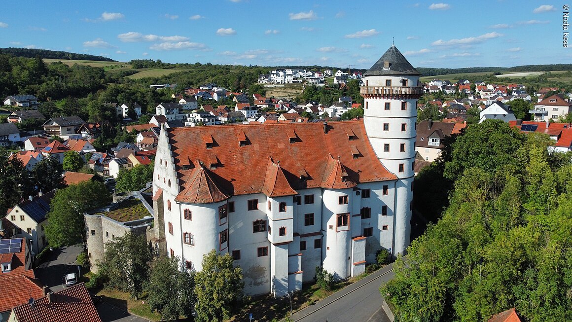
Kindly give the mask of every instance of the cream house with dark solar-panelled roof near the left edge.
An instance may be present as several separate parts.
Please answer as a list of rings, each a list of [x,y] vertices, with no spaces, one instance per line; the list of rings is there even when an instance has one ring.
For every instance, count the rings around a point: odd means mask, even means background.
[[[26,238],[31,256],[36,256],[46,247],[46,214],[50,211],[50,201],[55,190],[38,193],[20,202],[8,212],[8,218],[16,228],[18,238]]]

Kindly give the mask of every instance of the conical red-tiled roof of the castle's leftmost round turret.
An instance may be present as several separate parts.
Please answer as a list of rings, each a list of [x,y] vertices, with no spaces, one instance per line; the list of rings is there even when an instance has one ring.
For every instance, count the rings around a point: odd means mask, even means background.
[[[197,161],[186,181],[185,189],[177,195],[175,201],[188,202],[189,204],[210,204],[230,198],[231,195],[225,193],[225,189],[213,177],[213,173],[206,169],[201,161]]]

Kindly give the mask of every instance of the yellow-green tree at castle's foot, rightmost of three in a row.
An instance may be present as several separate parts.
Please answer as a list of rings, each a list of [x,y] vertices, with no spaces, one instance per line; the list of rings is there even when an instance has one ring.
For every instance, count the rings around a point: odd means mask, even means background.
[[[232,305],[243,295],[244,283],[240,267],[233,267],[228,253],[215,249],[202,257],[202,270],[194,276],[197,295],[197,320],[223,321],[229,318]]]

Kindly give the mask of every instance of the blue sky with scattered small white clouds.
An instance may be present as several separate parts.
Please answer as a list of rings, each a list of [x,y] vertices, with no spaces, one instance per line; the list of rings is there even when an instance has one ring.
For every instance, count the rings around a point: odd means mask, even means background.
[[[570,63],[565,1],[6,1],[0,47],[369,69],[394,41],[415,67]]]

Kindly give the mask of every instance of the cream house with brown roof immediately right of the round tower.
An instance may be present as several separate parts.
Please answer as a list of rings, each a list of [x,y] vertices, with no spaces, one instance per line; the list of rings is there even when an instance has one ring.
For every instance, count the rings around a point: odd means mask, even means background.
[[[433,162],[441,155],[444,148],[443,140],[447,136],[454,134],[455,126],[452,122],[420,121],[417,125],[417,137],[415,141],[415,151],[425,161]],[[464,128],[466,124],[459,124]]]

